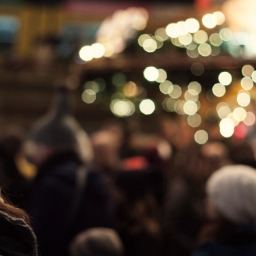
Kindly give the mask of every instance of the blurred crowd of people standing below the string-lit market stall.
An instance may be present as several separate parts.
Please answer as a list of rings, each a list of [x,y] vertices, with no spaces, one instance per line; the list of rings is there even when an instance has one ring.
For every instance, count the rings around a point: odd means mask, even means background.
[[[253,145],[206,129],[203,145],[170,115],[154,134],[119,122],[87,134],[60,88],[30,131],[2,127],[2,197],[31,217],[15,216],[42,256],[256,255]],[[1,237],[0,254],[36,255],[8,254]]]

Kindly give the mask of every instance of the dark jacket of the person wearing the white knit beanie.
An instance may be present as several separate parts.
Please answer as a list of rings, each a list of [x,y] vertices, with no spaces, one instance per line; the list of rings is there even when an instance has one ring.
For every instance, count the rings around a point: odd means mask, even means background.
[[[207,242],[192,256],[255,256],[256,225],[234,225],[223,230],[220,241]]]

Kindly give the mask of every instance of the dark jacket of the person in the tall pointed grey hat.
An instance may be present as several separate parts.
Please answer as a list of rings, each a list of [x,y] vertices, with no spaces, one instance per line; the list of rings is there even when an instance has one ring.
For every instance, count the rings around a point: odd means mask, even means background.
[[[88,168],[79,210],[69,224],[76,194],[76,171],[81,162],[75,152],[53,156],[39,167],[28,212],[34,218],[42,256],[67,255],[75,234],[87,228],[113,228],[114,207],[104,177]]]

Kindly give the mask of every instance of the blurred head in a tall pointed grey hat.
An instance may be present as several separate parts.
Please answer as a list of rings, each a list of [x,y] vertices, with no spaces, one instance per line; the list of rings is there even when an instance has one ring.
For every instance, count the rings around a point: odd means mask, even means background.
[[[67,93],[67,88],[59,89],[49,113],[34,123],[24,144],[28,160],[36,166],[56,152],[66,150],[77,151],[85,162],[92,160],[92,144],[69,114]]]

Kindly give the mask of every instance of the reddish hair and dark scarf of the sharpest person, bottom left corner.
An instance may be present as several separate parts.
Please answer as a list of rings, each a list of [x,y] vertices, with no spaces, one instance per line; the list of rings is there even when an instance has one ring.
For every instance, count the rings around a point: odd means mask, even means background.
[[[1,196],[0,227],[1,255],[38,255],[36,237],[30,226],[30,218],[23,210],[6,203]]]

